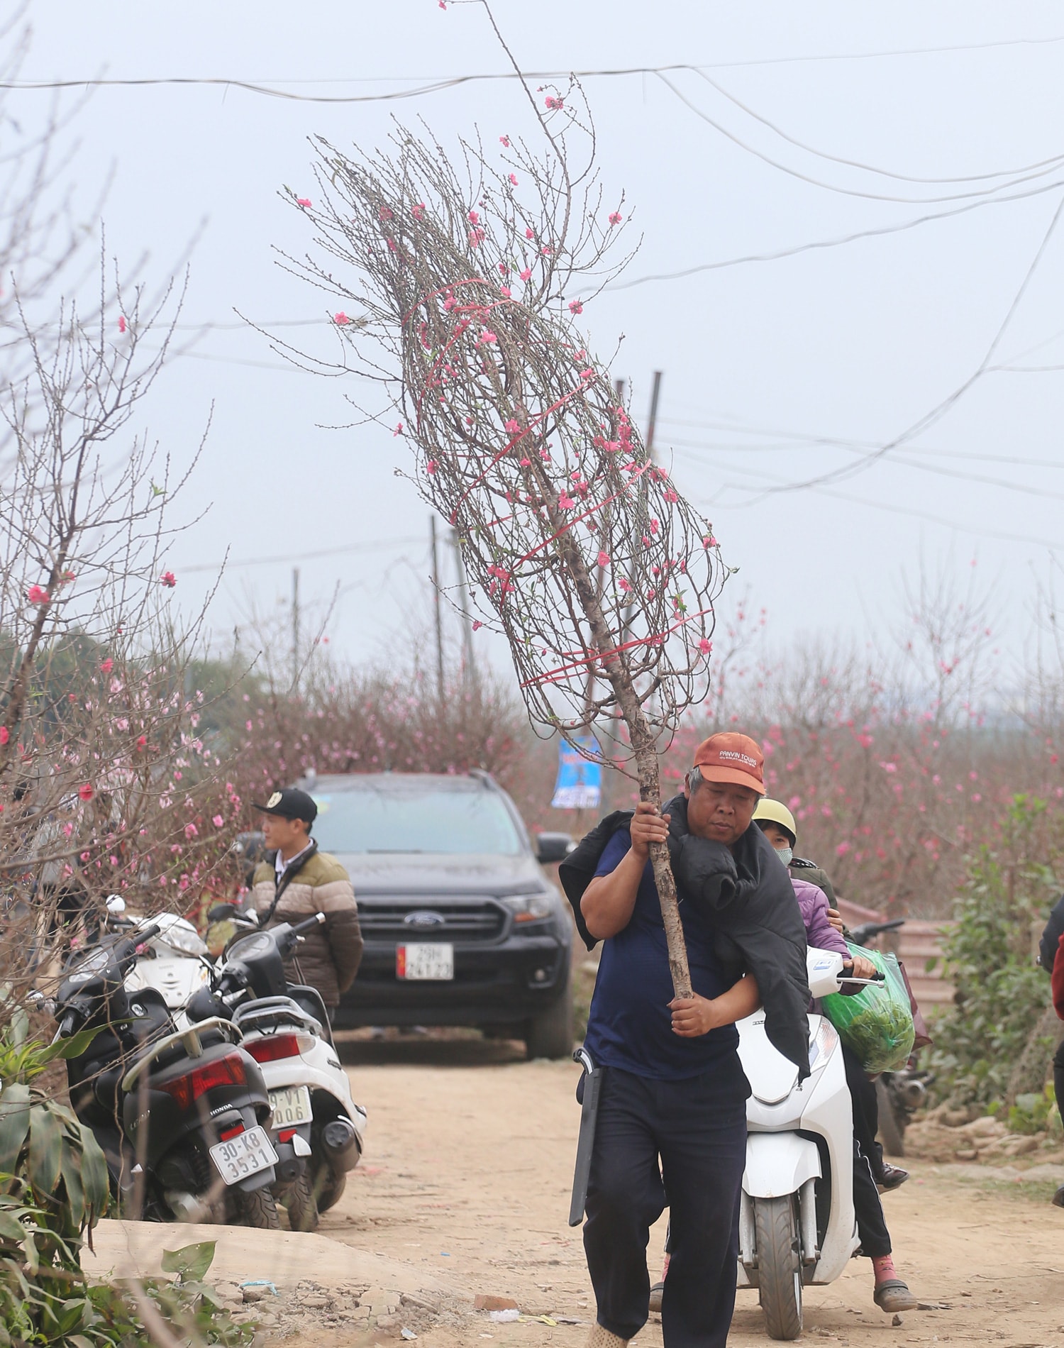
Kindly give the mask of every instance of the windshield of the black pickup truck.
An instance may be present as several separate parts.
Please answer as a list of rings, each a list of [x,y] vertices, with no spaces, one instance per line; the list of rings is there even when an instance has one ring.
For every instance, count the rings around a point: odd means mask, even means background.
[[[314,837],[322,852],[518,856],[522,851],[506,805],[487,790],[356,787],[314,793]]]

